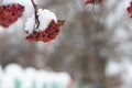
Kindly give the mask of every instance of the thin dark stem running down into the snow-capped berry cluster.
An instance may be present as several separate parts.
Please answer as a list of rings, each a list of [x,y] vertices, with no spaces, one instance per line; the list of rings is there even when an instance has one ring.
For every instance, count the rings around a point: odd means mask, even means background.
[[[35,4],[34,0],[31,0],[33,8],[34,8],[34,14],[35,14],[35,29],[38,29],[40,26],[40,21],[38,21],[38,15],[37,15],[37,6]]]

